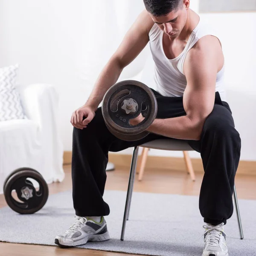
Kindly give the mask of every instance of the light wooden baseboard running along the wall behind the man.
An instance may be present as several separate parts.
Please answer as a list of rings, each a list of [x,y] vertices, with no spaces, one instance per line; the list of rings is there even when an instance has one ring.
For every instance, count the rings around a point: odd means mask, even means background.
[[[64,152],[64,164],[70,164],[72,159],[72,152]],[[109,153],[108,159],[114,163],[116,167],[130,169],[131,155],[128,154],[113,154]],[[192,166],[195,172],[204,172],[203,163],[201,159],[191,158]],[[140,164],[140,156],[138,159],[138,165]],[[145,169],[172,169],[175,171],[182,171],[186,169],[185,161],[183,157],[159,157],[148,156]],[[256,161],[244,161],[239,162],[237,174],[243,175],[256,175]]]

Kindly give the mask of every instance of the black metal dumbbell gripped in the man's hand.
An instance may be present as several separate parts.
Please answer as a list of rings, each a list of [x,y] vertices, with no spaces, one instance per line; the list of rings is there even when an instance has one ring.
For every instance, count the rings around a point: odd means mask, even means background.
[[[144,120],[131,125],[130,120],[143,115]],[[102,115],[108,130],[126,141],[140,140],[157,116],[157,100],[153,91],[135,80],[125,80],[111,86],[102,101]]]

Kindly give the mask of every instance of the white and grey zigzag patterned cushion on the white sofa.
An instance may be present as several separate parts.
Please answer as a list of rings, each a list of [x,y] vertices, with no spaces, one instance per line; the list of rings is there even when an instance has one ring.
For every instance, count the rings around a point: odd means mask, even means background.
[[[15,88],[18,64],[0,68],[0,121],[27,119]]]

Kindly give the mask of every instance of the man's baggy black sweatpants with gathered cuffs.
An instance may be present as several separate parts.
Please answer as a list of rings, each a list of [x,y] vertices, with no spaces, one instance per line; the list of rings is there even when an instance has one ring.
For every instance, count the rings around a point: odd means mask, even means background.
[[[166,97],[155,90],[153,92],[158,105],[156,118],[186,115],[183,96]],[[120,140],[108,131],[101,108],[98,108],[87,128],[74,128],[72,182],[76,215],[109,215],[109,206],[102,198],[109,151],[121,151],[161,137],[151,133],[138,141]],[[233,214],[232,195],[240,158],[241,139],[235,129],[230,107],[227,102],[221,101],[218,92],[215,93],[213,111],[204,123],[201,139],[187,142],[195,151],[201,153],[204,166],[199,197],[199,209],[204,222],[212,225],[221,222],[226,224],[227,219]]]

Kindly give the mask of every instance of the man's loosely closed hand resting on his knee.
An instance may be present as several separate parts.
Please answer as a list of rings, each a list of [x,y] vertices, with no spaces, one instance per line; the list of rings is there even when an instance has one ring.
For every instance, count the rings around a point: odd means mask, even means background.
[[[87,125],[93,120],[94,116],[95,111],[93,108],[88,105],[83,105],[81,108],[72,113],[70,122],[74,127],[83,130],[83,128],[86,128]]]

